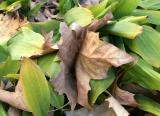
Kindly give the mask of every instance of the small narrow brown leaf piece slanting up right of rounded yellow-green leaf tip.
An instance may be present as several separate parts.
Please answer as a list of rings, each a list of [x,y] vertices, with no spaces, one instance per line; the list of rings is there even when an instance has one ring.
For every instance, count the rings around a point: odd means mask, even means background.
[[[103,18],[99,20],[93,21],[90,26],[88,27],[89,31],[96,31],[107,24],[108,20],[113,18],[113,14],[111,12],[107,13]]]

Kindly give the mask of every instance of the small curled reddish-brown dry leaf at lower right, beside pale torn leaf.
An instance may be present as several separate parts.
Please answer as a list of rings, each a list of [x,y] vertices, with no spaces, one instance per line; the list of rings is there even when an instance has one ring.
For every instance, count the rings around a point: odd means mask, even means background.
[[[133,93],[120,89],[117,85],[113,92],[113,96],[119,101],[122,105],[137,107],[138,103],[134,99]]]

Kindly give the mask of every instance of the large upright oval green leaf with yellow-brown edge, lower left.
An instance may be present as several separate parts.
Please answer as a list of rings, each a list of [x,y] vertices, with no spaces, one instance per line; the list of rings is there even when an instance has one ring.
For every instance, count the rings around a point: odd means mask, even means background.
[[[20,83],[24,100],[35,116],[47,116],[50,106],[50,91],[41,69],[30,59],[22,61]]]

